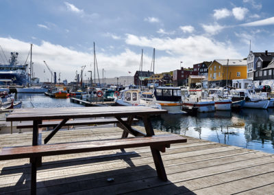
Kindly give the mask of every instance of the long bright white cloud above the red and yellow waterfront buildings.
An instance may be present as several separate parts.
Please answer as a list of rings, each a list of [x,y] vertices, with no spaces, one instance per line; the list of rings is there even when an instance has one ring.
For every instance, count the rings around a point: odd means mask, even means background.
[[[156,51],[166,51],[171,54],[165,70],[172,70],[171,65],[177,67],[179,60],[184,60],[187,67],[195,62],[214,60],[216,58],[242,58],[230,43],[214,41],[206,36],[188,36],[188,38],[147,38],[126,34],[126,43],[140,47],[155,47]],[[162,65],[164,68],[164,65]],[[174,69],[174,68],[173,68]]]

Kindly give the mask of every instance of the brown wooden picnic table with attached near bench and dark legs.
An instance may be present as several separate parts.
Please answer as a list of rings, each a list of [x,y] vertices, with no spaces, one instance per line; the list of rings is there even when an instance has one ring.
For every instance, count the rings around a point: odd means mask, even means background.
[[[165,152],[165,148],[169,148],[170,144],[184,143],[186,138],[179,135],[155,135],[149,115],[159,115],[167,113],[167,111],[145,106],[116,106],[116,107],[100,107],[100,108],[25,108],[16,110],[7,117],[8,122],[13,121],[33,121],[33,139],[32,146],[3,148],[0,152],[0,160],[29,158],[32,167],[31,194],[36,194],[36,172],[37,167],[42,165],[42,157],[73,154],[79,152],[94,152],[101,150],[114,150],[124,148],[136,148],[150,146],[151,154],[155,164],[158,177],[162,181],[167,181],[164,164],[162,163],[161,152]],[[123,120],[122,117],[127,117]],[[47,144],[47,142],[55,135],[55,133],[66,125],[69,119],[90,118],[90,117],[115,117],[119,122],[119,127],[123,129],[121,139],[103,139],[98,141],[82,141],[63,144]],[[132,127],[134,117],[141,117],[145,125],[146,133],[142,133]],[[44,139],[45,144],[42,145],[40,135],[38,135],[39,125],[45,119],[62,119],[60,124],[55,126],[51,133]],[[115,121],[115,122],[116,122]],[[114,121],[113,121],[114,122]],[[134,138],[127,138],[129,135]]]

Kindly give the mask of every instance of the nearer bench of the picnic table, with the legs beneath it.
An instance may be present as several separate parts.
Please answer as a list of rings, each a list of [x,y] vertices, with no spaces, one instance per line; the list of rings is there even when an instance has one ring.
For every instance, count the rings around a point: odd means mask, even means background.
[[[66,144],[47,144],[40,146],[23,146],[3,148],[0,152],[0,160],[23,159],[29,158],[32,163],[32,194],[36,194],[36,172],[40,165],[42,157],[73,154],[80,152],[95,152],[101,150],[116,150],[123,148],[137,148],[150,146],[153,154],[153,160],[161,169],[156,169],[160,179],[166,181],[166,173],[162,159],[155,158],[155,151],[165,152],[165,148],[169,148],[170,144],[184,143],[186,138],[179,135],[153,135],[151,137],[134,137],[124,139],[104,139],[98,141],[82,141]]]

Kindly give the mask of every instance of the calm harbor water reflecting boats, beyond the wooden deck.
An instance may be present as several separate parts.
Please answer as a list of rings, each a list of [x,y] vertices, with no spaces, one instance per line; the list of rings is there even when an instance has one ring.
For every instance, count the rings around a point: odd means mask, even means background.
[[[49,98],[44,94],[18,93],[22,108],[82,106],[69,98]],[[153,128],[221,144],[274,153],[274,109],[242,109],[238,113],[216,111],[197,116],[161,115],[153,117]]]

